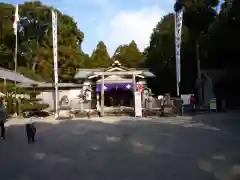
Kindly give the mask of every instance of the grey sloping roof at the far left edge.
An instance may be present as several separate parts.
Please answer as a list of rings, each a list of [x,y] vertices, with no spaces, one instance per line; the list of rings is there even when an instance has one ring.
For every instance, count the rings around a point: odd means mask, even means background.
[[[29,79],[25,76],[23,76],[20,73],[16,73],[14,71],[8,70],[8,69],[3,69],[0,68],[0,79],[6,79],[9,81],[15,81],[18,83],[30,83],[30,84],[34,84],[37,81],[34,81],[32,79]]]

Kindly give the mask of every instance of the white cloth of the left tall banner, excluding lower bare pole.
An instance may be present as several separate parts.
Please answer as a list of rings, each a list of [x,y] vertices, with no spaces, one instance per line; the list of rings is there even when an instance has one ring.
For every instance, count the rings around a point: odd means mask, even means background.
[[[58,84],[58,49],[57,49],[57,13],[52,10],[53,65],[54,81]]]

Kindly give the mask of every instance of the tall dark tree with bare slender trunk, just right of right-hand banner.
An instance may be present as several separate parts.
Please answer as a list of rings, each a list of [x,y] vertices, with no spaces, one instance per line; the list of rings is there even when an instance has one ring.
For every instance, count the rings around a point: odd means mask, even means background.
[[[200,67],[200,46],[201,35],[208,32],[209,25],[216,19],[217,13],[214,8],[218,0],[176,0],[175,11],[184,9],[183,23],[187,26],[191,39],[196,45],[196,67],[198,79],[198,101],[202,103],[202,81]],[[197,23],[196,23],[197,22]]]

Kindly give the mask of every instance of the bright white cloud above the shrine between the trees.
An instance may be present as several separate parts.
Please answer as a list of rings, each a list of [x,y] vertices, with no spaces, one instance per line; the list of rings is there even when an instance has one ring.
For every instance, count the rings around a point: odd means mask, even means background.
[[[152,30],[164,13],[158,6],[120,11],[101,24],[98,33],[109,47],[110,54],[113,54],[120,44],[128,44],[132,40],[135,40],[142,51],[148,45]]]

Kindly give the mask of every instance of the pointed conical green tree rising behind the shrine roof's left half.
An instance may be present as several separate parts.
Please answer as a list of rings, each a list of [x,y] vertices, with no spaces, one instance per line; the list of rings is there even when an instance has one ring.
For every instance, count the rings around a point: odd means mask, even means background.
[[[91,68],[106,68],[111,66],[112,60],[108,54],[107,47],[103,41],[97,44],[96,49],[91,56],[91,62],[88,65]]]

